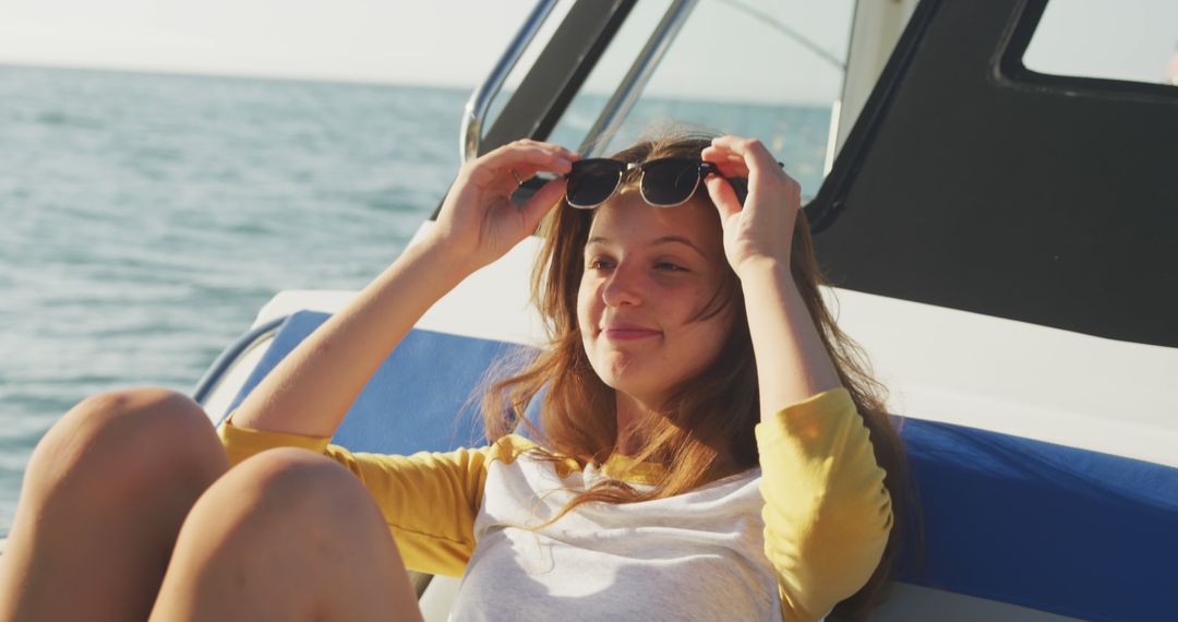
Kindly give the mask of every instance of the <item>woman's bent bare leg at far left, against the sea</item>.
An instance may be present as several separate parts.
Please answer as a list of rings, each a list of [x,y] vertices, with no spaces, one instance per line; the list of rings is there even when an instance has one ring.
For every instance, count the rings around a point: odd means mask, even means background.
[[[79,403],[29,461],[0,557],[0,621],[145,618],[184,517],[226,469],[209,417],[184,395]]]

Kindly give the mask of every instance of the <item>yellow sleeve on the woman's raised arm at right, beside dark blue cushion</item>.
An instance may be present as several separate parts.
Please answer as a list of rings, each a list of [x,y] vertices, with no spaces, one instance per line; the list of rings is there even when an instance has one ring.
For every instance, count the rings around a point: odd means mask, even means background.
[[[765,552],[782,615],[814,621],[861,588],[892,528],[886,471],[843,388],[813,396],[756,426]]]

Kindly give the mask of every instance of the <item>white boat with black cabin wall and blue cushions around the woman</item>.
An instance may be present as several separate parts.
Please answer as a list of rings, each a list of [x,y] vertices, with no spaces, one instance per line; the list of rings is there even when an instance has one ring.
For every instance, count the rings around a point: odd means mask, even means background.
[[[541,0],[474,93],[459,148],[530,137],[608,151],[648,88],[682,80],[669,54],[729,24],[719,11],[743,15],[750,49],[759,37],[809,49],[770,54],[766,80],[788,80],[798,59],[830,65],[805,20],[769,5]],[[849,53],[834,55],[841,87],[805,210],[839,323],[891,389],[924,517],[924,550],[906,551],[872,620],[1172,618],[1178,88],[1027,68],[1046,0],[846,7]],[[582,93],[594,81],[608,97]],[[492,360],[541,339],[537,246],[430,309],[335,442],[479,443],[468,398]],[[194,398],[219,422],[355,293],[278,293]],[[445,620],[459,580],[413,580],[425,618]]]

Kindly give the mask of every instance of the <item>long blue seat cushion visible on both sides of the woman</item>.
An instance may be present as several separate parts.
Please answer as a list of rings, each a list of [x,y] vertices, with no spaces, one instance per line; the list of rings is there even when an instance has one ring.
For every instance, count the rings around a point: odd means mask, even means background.
[[[233,408],[326,318],[291,316]],[[477,391],[514,348],[411,331],[333,442],[384,454],[485,443]],[[902,552],[902,581],[1085,620],[1174,618],[1178,469],[919,419],[901,435],[926,537],[922,560],[911,540]]]

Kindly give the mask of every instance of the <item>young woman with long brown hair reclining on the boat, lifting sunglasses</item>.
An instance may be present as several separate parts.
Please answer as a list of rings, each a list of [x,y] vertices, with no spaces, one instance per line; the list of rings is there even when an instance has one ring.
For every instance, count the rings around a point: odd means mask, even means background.
[[[514,204],[540,172],[562,177]],[[464,165],[428,238],[219,439],[166,390],[71,410],[29,463],[0,620],[418,620],[406,567],[464,576],[454,620],[863,615],[904,452],[823,306],[799,191],[737,137],[611,160],[521,140]],[[491,444],[330,445],[422,313],[554,206],[535,279],[551,343],[490,391]]]

